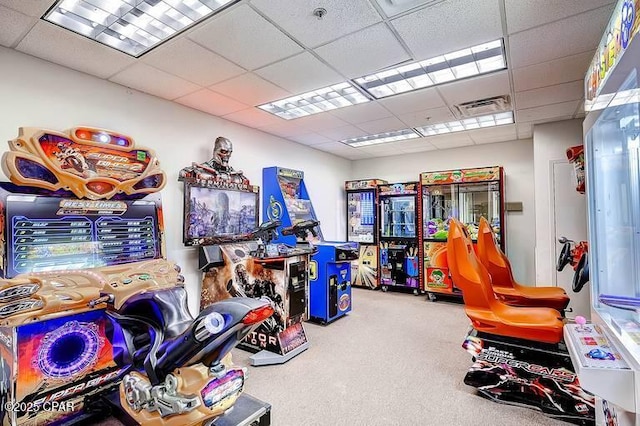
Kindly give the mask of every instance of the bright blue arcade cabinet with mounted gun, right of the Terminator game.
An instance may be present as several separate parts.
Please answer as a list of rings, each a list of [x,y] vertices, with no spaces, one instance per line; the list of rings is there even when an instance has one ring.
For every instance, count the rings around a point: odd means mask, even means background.
[[[278,220],[284,227],[304,223],[319,225],[304,173],[282,167],[262,169],[263,219]],[[299,236],[281,232],[275,242],[304,246]],[[319,226],[306,238],[317,250],[309,268],[309,319],[328,324],[351,311],[351,265],[358,258],[357,243],[325,241]]]

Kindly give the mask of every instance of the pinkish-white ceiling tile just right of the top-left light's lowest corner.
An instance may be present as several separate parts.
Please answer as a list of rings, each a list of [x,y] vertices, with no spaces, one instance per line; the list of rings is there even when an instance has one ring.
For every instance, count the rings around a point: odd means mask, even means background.
[[[188,38],[177,38],[158,47],[144,55],[142,62],[201,86],[210,86],[246,72]]]

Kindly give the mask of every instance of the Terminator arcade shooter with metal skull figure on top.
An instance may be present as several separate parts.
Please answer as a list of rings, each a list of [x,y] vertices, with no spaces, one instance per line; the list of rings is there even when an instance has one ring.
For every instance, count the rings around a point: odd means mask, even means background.
[[[307,319],[310,250],[271,244],[280,223],[258,226],[259,187],[229,165],[231,141],[219,137],[213,158],[182,169],[184,243],[198,246],[204,272],[201,309],[230,297],[269,298],[274,315],[238,347],[252,365],[282,364],[309,348]]]

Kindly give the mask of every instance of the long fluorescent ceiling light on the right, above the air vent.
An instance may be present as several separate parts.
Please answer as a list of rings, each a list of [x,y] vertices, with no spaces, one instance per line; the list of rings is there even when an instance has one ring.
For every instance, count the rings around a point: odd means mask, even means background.
[[[376,99],[507,68],[502,39],[355,79]]]

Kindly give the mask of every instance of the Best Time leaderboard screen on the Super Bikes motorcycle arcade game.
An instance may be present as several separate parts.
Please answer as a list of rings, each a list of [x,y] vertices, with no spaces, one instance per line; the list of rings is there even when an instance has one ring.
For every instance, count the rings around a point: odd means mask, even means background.
[[[159,203],[145,198],[91,201],[7,195],[4,276],[159,258]]]

